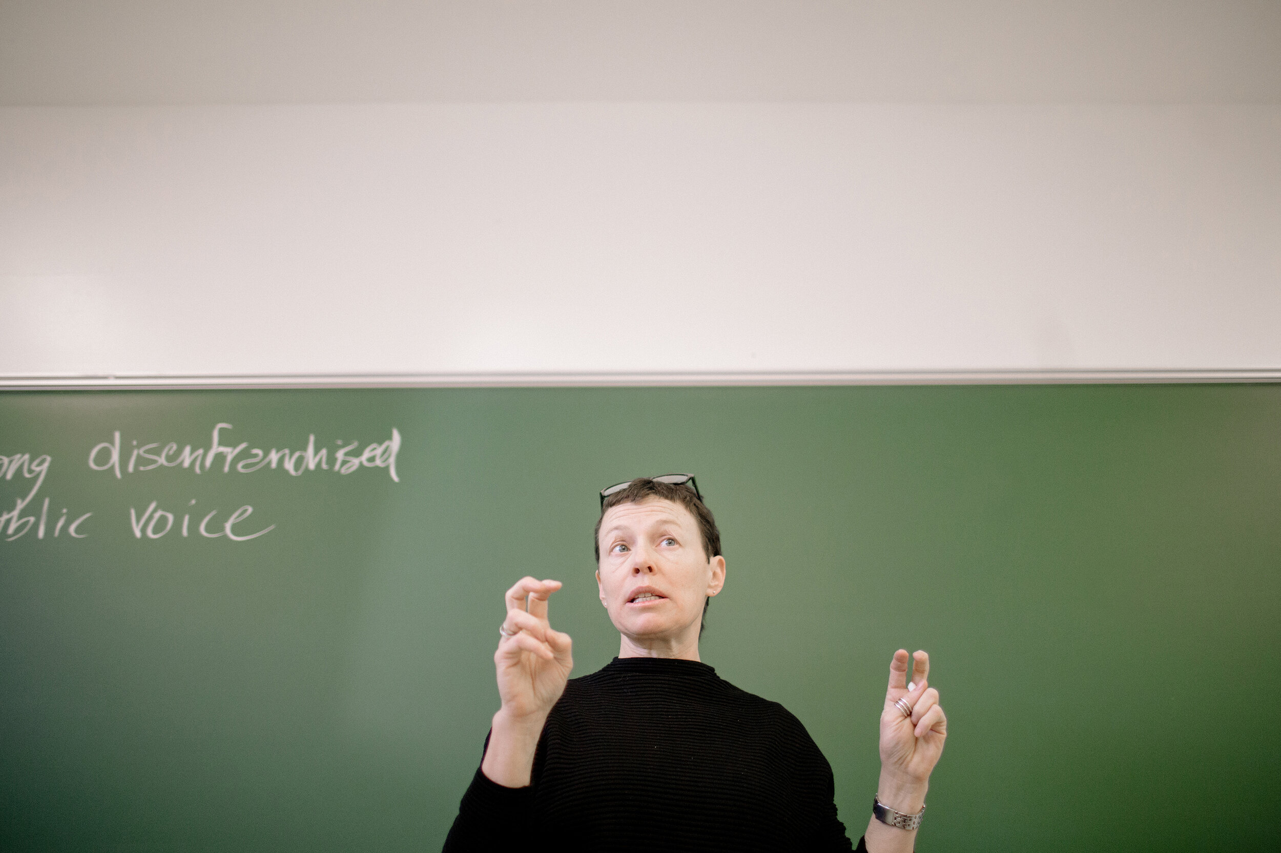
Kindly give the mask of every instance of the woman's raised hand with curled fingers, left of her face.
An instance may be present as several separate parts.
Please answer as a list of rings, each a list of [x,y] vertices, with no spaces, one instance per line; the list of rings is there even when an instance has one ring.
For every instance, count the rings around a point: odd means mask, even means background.
[[[514,721],[537,721],[539,729],[574,669],[569,634],[553,630],[547,621],[547,598],[560,588],[559,580],[518,580],[507,590],[503,637],[493,653],[502,698],[500,713]]]

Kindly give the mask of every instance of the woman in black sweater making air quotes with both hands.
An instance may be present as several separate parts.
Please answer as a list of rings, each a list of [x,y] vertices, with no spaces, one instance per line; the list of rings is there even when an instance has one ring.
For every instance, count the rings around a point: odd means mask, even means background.
[[[494,653],[502,707],[445,849],[849,850],[831,767],[783,706],[698,658],[708,599],[725,584],[712,514],[692,475],[601,493],[601,603],[619,657],[569,680],[557,580],[507,590]],[[929,656],[894,653],[880,720],[881,772],[860,850],[907,853],[947,717]]]

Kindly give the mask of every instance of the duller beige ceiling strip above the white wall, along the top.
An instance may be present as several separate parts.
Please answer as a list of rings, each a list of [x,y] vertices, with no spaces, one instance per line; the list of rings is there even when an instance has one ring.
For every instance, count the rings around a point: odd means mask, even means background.
[[[0,104],[1277,102],[1277,0],[0,0]]]

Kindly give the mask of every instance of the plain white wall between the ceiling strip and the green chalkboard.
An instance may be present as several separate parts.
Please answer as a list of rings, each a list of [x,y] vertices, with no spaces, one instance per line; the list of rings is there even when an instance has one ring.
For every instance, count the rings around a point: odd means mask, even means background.
[[[1255,54],[1218,104],[254,104],[105,51],[0,86],[0,375],[1281,368]]]

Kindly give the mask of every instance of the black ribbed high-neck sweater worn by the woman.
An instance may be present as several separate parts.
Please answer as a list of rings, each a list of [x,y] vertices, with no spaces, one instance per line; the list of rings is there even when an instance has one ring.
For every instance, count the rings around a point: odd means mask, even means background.
[[[697,661],[614,658],[566,684],[530,785],[477,770],[445,850],[849,850],[833,793],[781,704]]]

